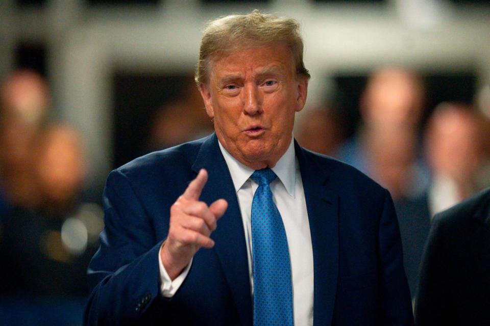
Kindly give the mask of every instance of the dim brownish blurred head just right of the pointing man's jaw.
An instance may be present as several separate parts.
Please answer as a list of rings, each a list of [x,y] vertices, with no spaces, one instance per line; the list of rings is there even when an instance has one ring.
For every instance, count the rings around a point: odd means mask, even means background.
[[[296,139],[306,149],[334,156],[344,135],[333,110],[311,107],[299,122]]]

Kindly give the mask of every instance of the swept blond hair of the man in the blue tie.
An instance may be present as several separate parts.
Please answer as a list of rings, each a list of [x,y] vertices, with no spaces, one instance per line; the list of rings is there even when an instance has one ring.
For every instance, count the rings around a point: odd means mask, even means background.
[[[247,15],[229,15],[206,25],[201,40],[195,82],[206,83],[208,67],[216,56],[227,51],[256,46],[286,44],[291,51],[297,76],[310,77],[303,63],[303,40],[295,19],[262,14],[257,9]]]

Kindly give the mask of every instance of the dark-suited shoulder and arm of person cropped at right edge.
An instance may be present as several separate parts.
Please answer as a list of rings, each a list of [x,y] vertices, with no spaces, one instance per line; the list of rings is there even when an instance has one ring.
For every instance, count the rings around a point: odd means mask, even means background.
[[[490,188],[434,216],[415,301],[417,325],[490,324]]]

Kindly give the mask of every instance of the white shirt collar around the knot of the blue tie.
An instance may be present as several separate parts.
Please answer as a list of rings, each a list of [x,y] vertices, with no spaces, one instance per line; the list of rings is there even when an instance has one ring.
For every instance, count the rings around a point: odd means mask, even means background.
[[[233,180],[233,185],[235,186],[235,191],[243,186],[243,184],[250,178],[255,170],[243,165],[236,158],[234,158],[219,142],[219,149],[223,153],[228,170],[230,170],[231,179]],[[295,186],[296,186],[296,158],[295,158],[295,144],[294,138],[291,137],[291,142],[281,158],[277,161],[277,164],[272,171],[277,175],[279,180],[286,188],[287,192],[291,197],[295,197]]]

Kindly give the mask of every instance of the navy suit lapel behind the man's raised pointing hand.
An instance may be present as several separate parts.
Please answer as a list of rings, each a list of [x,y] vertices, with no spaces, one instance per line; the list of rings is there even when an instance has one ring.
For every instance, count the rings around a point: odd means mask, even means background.
[[[226,275],[241,324],[251,325],[252,298],[243,222],[233,181],[214,133],[203,143],[192,166],[196,173],[202,168],[208,171],[209,178],[201,200],[208,205],[220,198],[228,201],[228,209],[219,219],[211,238],[215,241],[214,250]]]

